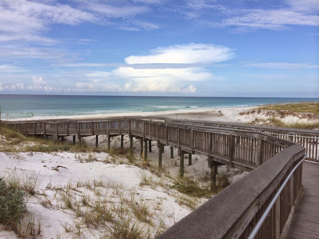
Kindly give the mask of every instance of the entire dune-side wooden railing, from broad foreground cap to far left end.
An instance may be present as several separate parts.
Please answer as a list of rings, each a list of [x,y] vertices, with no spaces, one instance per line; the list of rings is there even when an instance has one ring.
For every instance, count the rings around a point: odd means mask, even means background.
[[[208,156],[209,164],[223,163],[248,175],[167,229],[162,238],[246,238],[286,177],[305,154],[305,147],[261,130],[215,127],[201,122],[167,121],[159,118],[112,118],[105,120],[56,120],[8,122],[25,134],[78,137],[129,134],[140,140],[178,148],[179,154]],[[293,173],[256,238],[280,238],[301,191],[302,164]]]

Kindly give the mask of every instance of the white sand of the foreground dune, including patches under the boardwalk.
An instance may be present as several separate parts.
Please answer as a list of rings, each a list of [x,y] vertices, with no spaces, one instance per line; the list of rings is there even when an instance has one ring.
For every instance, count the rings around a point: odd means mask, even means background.
[[[99,136],[99,148],[107,147],[107,137]],[[72,141],[72,136],[66,137],[67,141]],[[84,138],[86,144],[94,146],[95,136]],[[4,143],[4,138],[1,138]],[[127,147],[129,142],[128,136],[124,137],[124,145]],[[114,137],[111,142],[111,147],[118,147],[120,138]],[[139,158],[139,140],[134,139],[134,153]],[[28,202],[27,210],[33,214],[35,221],[40,219],[41,236],[39,238],[99,238],[100,235],[108,234],[108,229],[105,227],[95,228],[86,226],[84,223],[80,226],[81,235],[76,236],[76,225],[80,219],[75,212],[66,208],[62,200],[63,195],[71,195],[72,198],[81,200],[85,195],[90,195],[91,200],[99,198],[97,191],[103,199],[117,202],[119,195],[126,201],[132,199],[136,204],[147,202],[149,211],[152,214],[152,228],[162,227],[168,228],[175,222],[189,214],[192,209],[181,201],[191,200],[195,203],[195,207],[203,204],[207,199],[190,198],[187,195],[182,195],[176,189],[170,187],[172,180],[162,173],[161,177],[152,174],[148,170],[141,169],[132,164],[119,164],[119,162],[127,162],[121,156],[117,156],[117,163],[111,163],[112,156],[108,153],[94,153],[91,158],[95,158],[93,162],[85,162],[89,153],[73,153],[73,152],[16,152],[5,153],[0,152],[0,177],[19,177],[22,182],[34,182],[37,193],[33,196],[27,195]],[[80,158],[80,159],[79,159]],[[158,148],[156,142],[152,142],[152,152],[148,152],[148,159],[154,165],[158,164]],[[143,159],[142,159],[143,160]],[[107,161],[107,162],[101,162]],[[110,163],[108,163],[110,162]],[[206,181],[199,181],[199,185],[209,185],[207,177],[210,169],[208,168],[207,159],[203,156],[192,156],[192,165],[188,166],[188,158],[184,159],[185,177],[203,178]],[[174,149],[174,158],[170,158],[169,147],[165,147],[165,152],[162,155],[162,165],[164,171],[170,177],[176,177],[179,172],[179,157],[177,150]],[[63,166],[63,167],[58,167]],[[65,168],[64,168],[65,167]],[[55,169],[58,169],[55,170]],[[230,169],[228,166],[219,167],[219,172],[225,171],[229,174],[230,181],[234,181],[247,172],[242,172],[237,169]],[[152,177],[152,185],[140,185],[142,175],[148,178]],[[79,182],[90,182],[102,180],[103,186],[96,189],[78,185]],[[162,180],[162,183],[160,183]],[[117,185],[117,186],[116,186]],[[115,193],[115,188],[119,187],[121,193]],[[60,189],[60,190],[59,190]],[[56,194],[56,195],[55,195]],[[183,199],[184,197],[184,199]],[[182,198],[182,199],[181,199]],[[50,203],[49,203],[50,202]],[[108,204],[109,205],[109,204]],[[81,217],[80,217],[81,218]],[[148,224],[139,222],[144,230]],[[1,224],[0,224],[1,225]],[[65,231],[65,225],[71,228],[70,232]],[[101,231],[106,231],[102,233]],[[0,229],[0,238],[18,238],[15,233],[9,228]],[[103,237],[102,237],[103,238]]]

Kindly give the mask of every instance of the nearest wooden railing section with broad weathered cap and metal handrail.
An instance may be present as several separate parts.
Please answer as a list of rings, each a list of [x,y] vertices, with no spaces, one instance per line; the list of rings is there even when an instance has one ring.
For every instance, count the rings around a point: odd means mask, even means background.
[[[297,144],[283,149],[245,177],[229,185],[195,209],[157,239],[247,238],[305,148]],[[279,198],[258,230],[256,239],[285,238],[302,185],[302,164],[293,172]]]

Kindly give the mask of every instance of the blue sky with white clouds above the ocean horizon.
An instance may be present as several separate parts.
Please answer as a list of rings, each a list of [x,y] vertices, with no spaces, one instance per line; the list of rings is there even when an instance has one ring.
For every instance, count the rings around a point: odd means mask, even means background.
[[[319,98],[319,0],[0,0],[0,94]]]

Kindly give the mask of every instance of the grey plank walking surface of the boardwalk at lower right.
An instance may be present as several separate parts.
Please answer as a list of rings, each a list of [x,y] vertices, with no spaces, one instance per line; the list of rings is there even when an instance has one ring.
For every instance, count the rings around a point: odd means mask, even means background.
[[[286,239],[319,238],[319,164],[303,162],[303,192]]]

